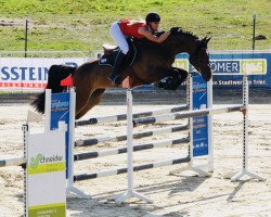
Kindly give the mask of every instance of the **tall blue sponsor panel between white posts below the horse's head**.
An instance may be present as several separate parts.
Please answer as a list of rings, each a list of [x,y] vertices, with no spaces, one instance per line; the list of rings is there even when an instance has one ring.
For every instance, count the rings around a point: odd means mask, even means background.
[[[193,76],[193,110],[204,110],[207,104],[207,82],[202,76]],[[208,154],[208,117],[193,117],[193,156]]]

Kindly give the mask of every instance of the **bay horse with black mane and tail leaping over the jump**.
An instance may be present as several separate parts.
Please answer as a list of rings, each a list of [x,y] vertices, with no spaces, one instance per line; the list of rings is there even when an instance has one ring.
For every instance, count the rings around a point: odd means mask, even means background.
[[[207,44],[210,38],[199,39],[190,31],[171,34],[164,42],[156,43],[147,39],[134,40],[137,55],[131,66],[121,72],[121,80],[128,75],[134,80],[133,86],[139,84],[158,82],[164,78],[170,78],[170,86],[167,89],[176,90],[188,76],[184,69],[172,67],[176,55],[189,53],[190,63],[199,72],[203,78],[208,81],[211,78]],[[76,119],[82,117],[94,105],[102,100],[106,88],[116,88],[112,85],[108,76],[112,66],[99,64],[99,60],[86,62],[76,68],[73,74],[76,90]],[[67,75],[65,75],[66,77]],[[60,87],[63,75],[50,79],[50,71],[47,88],[52,92],[62,92]],[[31,105],[40,113],[44,112],[44,92],[40,93]]]

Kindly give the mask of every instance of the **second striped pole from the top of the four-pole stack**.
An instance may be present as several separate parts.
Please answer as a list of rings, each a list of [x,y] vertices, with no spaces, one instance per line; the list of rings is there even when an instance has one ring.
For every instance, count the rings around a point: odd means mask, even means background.
[[[136,132],[136,133],[133,133],[133,139],[141,139],[141,138],[152,137],[152,136],[162,135],[162,133],[184,131],[188,129],[189,129],[188,125],[165,127],[165,128],[154,129],[154,130],[150,130],[150,131]],[[98,144],[100,142],[107,142],[107,141],[118,141],[119,142],[119,141],[125,141],[125,140],[127,140],[127,135],[112,136],[112,137],[99,137],[99,138],[93,138],[93,139],[77,140],[77,141],[75,141],[75,146],[88,146],[88,145]]]

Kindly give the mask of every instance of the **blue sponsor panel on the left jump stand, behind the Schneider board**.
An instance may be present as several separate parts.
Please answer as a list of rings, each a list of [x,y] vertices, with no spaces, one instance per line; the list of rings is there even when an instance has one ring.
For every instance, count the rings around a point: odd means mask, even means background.
[[[62,93],[53,93],[51,98],[51,123],[50,129],[56,130],[59,129],[59,122],[65,122],[65,124],[69,124],[69,93],[62,92]],[[69,130],[67,129],[65,136],[65,153],[66,153],[66,177],[68,175],[68,139],[69,139]]]

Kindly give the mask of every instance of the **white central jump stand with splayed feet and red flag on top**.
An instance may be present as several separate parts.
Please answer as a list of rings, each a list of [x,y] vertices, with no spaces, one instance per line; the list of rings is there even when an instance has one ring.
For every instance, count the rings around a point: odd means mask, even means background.
[[[126,103],[127,103],[127,161],[128,161],[128,189],[124,193],[115,196],[117,204],[121,204],[129,197],[137,197],[147,203],[153,203],[153,201],[137,191],[133,190],[133,122],[132,122],[132,89],[129,85],[129,76],[122,84],[126,90]]]

